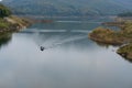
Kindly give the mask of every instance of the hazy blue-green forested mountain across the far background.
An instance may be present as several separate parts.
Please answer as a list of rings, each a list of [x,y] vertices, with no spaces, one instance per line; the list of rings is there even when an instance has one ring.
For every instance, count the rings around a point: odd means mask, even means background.
[[[132,0],[3,0],[16,14],[112,15],[132,10]]]

